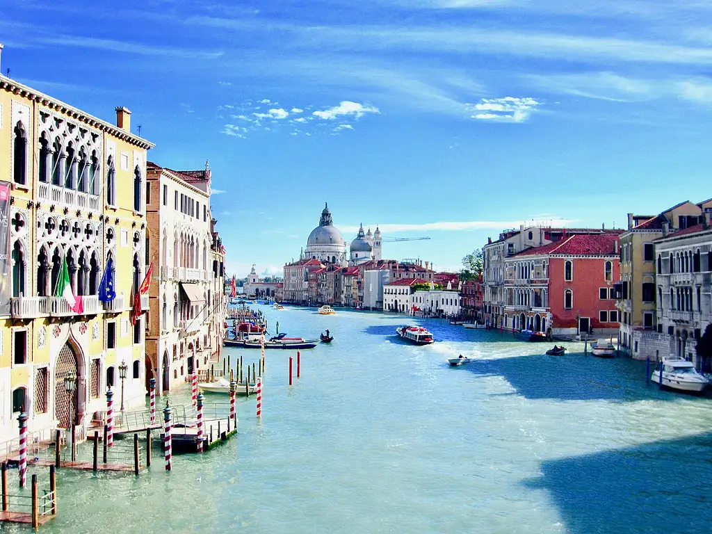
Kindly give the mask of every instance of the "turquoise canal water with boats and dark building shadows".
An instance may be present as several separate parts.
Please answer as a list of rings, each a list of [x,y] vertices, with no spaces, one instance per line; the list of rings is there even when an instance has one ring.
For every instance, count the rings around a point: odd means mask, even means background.
[[[511,334],[403,316],[261,306],[270,331],[335,340],[267,352],[263,419],[209,453],[160,450],[135,478],[61,470],[46,533],[684,533],[712,525],[712,400],[646,384],[645,362],[565,357]],[[258,351],[229,349],[234,364]],[[476,362],[458,368],[446,358]],[[293,354],[291,354],[293,355]],[[208,401],[219,400],[214,396]],[[172,404],[189,404],[189,388]],[[85,449],[88,451],[88,449]],[[42,471],[46,477],[46,471]],[[4,527],[8,532],[22,528]]]

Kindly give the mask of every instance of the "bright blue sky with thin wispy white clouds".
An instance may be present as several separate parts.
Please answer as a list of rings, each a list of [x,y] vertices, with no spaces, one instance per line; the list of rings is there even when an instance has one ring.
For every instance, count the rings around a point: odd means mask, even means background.
[[[328,201],[439,270],[520,224],[712,197],[703,0],[3,0],[1,68],[150,161],[212,171],[228,272],[281,273]]]

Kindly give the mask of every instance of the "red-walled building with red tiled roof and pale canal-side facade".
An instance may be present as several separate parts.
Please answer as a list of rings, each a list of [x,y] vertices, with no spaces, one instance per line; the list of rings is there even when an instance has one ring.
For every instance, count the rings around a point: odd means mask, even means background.
[[[574,234],[505,261],[504,328],[555,335],[618,330],[619,234]]]

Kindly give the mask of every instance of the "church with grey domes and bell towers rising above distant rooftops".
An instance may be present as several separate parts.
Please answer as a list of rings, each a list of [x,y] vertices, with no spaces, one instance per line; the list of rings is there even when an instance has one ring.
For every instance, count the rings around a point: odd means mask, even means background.
[[[312,230],[307,239],[307,248],[300,259],[317,259],[323,263],[347,265],[346,244],[341,232],[333,225],[329,205],[325,204],[319,219],[319,226]],[[376,229],[365,234],[360,227],[356,239],[351,242],[350,264],[360,265],[372,259],[381,259],[381,231]]]

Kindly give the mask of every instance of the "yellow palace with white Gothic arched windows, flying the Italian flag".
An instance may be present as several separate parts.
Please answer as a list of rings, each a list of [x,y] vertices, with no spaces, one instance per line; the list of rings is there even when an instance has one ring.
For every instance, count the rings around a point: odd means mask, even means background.
[[[0,75],[0,182],[11,183],[9,250],[0,251],[10,260],[0,285],[0,441],[17,436],[21,411],[29,430],[45,435],[66,428],[71,412],[82,436],[103,417],[108,386],[116,409],[145,403],[145,320],[132,327],[130,295],[146,271],[146,155],[154,145],[131,133],[129,110],[117,108],[116,117],[105,122]],[[102,303],[109,258],[117,296]],[[64,261],[83,298],[79,313],[53,296]]]

